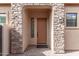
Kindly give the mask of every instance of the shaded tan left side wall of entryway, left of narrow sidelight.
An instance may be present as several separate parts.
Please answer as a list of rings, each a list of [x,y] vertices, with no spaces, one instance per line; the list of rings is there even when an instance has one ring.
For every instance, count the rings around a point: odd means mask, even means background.
[[[29,39],[30,39],[29,24],[30,24],[30,20],[29,20],[28,11],[24,8],[23,9],[23,51],[29,45]]]

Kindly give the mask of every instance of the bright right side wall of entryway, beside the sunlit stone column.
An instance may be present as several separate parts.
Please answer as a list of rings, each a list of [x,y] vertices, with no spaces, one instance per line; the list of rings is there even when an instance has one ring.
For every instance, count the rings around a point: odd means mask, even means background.
[[[51,48],[52,52],[54,52],[54,11],[53,7],[51,7],[51,13],[48,20],[48,46]]]

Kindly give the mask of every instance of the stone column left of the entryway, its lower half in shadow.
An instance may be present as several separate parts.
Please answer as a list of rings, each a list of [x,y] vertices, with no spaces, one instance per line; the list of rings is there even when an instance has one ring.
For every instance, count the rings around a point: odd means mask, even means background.
[[[22,53],[22,4],[11,4],[11,53]]]

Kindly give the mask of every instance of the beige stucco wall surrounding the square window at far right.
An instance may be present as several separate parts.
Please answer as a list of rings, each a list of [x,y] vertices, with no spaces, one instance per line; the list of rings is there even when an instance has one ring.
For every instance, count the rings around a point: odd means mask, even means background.
[[[66,13],[77,13],[77,27],[65,26],[65,50],[79,50],[79,7],[65,7]]]

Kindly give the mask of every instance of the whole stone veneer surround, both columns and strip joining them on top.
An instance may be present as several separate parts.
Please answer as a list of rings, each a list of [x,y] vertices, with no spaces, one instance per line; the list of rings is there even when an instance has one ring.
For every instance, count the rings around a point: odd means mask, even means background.
[[[51,5],[54,8],[54,51],[64,53],[64,4],[11,4],[11,53],[23,53],[22,9],[25,5]]]

